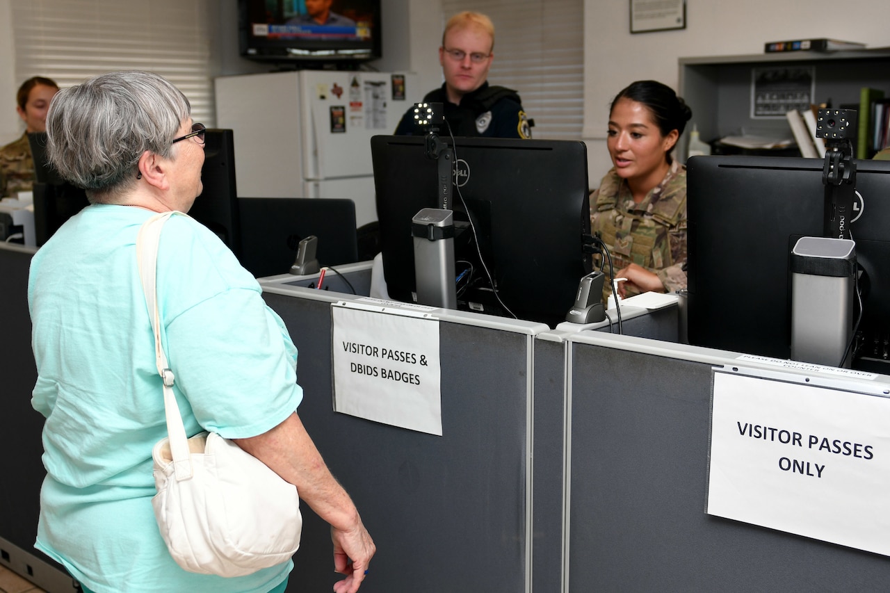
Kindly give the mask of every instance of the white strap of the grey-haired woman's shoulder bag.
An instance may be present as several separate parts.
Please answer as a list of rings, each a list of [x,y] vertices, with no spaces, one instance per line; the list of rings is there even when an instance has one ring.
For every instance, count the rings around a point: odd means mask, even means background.
[[[155,334],[155,361],[158,375],[164,384],[164,412],[166,414],[167,436],[169,437],[170,453],[173,456],[176,480],[187,480],[192,475],[189,440],[182,424],[182,414],[173,393],[174,374],[167,363],[164,346],[161,344],[160,315],[158,314],[158,243],[164,223],[172,215],[183,215],[182,212],[164,212],[151,216],[136,236],[136,264],[142,279],[142,290],[145,292],[145,303],[149,308],[151,329]]]

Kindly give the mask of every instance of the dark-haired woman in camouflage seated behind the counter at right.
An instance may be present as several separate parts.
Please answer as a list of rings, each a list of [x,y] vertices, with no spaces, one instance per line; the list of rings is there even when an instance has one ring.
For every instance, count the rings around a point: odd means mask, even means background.
[[[626,279],[621,297],[686,288],[686,167],[670,153],[690,118],[683,99],[654,80],[627,86],[611,104],[614,167],[590,195],[590,230],[609,248],[615,278]],[[605,301],[608,265],[603,272]]]

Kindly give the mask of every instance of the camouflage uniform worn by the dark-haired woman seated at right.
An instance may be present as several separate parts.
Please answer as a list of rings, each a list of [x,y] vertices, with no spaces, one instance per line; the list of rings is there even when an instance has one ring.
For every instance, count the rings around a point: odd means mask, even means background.
[[[658,275],[667,292],[686,288],[686,167],[676,160],[665,178],[639,204],[627,183],[611,169],[590,194],[590,231],[609,247],[617,273],[628,264]],[[595,267],[600,267],[594,256]],[[608,261],[603,301],[611,295]],[[635,292],[628,286],[627,296]]]

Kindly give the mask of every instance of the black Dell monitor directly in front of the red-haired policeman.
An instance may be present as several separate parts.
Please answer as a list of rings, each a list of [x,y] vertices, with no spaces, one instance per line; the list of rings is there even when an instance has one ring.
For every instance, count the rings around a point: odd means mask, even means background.
[[[581,239],[590,230],[586,145],[457,138],[453,148],[455,218],[472,216],[500,300],[520,319],[551,326],[564,321],[578,281],[590,272]],[[392,298],[410,302],[416,288],[411,219],[437,207],[437,162],[426,157],[425,139],[418,136],[374,136],[371,157],[386,288]],[[456,226],[456,277],[465,262],[473,265],[458,308],[508,315],[491,293],[468,224]]]

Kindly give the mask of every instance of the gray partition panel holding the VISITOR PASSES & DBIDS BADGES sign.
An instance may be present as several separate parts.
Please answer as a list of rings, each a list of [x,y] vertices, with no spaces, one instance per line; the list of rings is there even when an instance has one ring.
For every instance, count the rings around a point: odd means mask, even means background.
[[[562,464],[559,437],[539,458],[531,450],[533,336],[545,325],[437,312],[442,436],[427,435],[333,411],[330,307],[348,296],[280,278],[261,283],[300,350],[300,417],[376,541],[363,591],[530,591],[533,548],[535,556],[552,552],[549,570],[558,572],[559,517],[540,534],[541,548],[529,527],[532,492],[545,502],[549,489],[552,510],[562,485],[558,473],[543,484],[532,479],[535,467]],[[306,512],[288,590],[329,590],[336,576],[328,540],[327,527]]]

